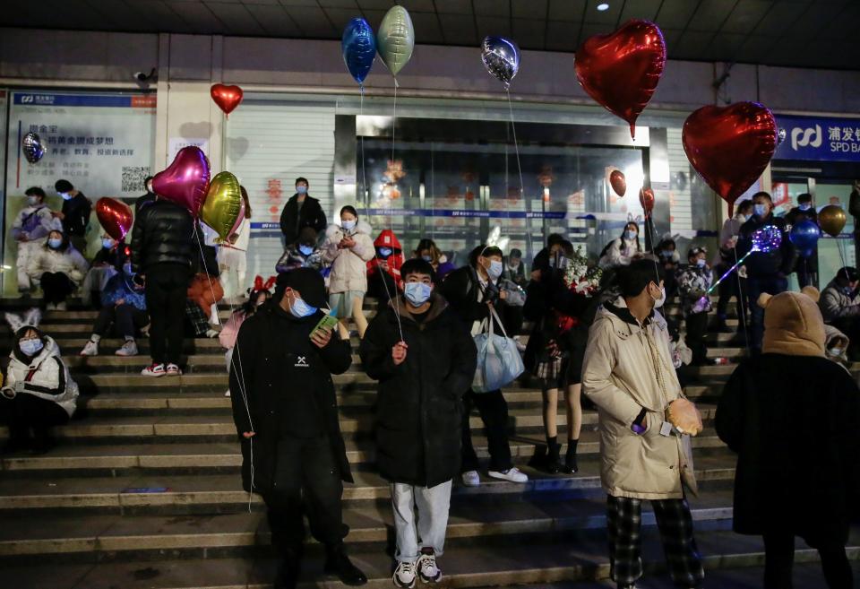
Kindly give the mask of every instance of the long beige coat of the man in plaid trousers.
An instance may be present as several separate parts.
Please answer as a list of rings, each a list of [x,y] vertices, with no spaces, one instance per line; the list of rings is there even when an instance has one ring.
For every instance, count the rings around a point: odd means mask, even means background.
[[[669,342],[663,316],[640,325],[623,298],[600,307],[591,325],[582,391],[598,406],[600,479],[614,497],[682,498],[682,470],[696,492],[689,437],[660,435],[668,404],[683,396]],[[643,408],[640,436],[631,426]]]

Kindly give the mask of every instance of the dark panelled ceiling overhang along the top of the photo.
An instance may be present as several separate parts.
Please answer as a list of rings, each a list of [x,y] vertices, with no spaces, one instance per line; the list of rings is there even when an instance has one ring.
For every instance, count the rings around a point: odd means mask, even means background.
[[[340,39],[362,15],[374,27],[392,0],[35,0],[0,25]],[[860,0],[401,0],[417,43],[476,46],[485,35],[524,49],[574,51],[632,18],[657,22],[669,57],[860,69]],[[608,4],[598,10],[598,4]]]

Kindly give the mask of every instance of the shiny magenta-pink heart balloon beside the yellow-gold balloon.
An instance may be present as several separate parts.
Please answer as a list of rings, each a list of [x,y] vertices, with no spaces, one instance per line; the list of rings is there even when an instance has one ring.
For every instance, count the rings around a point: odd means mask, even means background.
[[[209,160],[195,145],[183,147],[176,153],[168,169],[152,178],[152,190],[188,209],[197,217],[209,190]]]

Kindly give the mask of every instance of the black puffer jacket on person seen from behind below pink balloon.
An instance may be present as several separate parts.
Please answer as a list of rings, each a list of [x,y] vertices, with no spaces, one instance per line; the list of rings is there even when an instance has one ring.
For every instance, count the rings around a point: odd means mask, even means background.
[[[182,264],[191,269],[197,253],[194,220],[178,204],[160,199],[143,208],[132,230],[132,268],[146,273],[154,264]]]

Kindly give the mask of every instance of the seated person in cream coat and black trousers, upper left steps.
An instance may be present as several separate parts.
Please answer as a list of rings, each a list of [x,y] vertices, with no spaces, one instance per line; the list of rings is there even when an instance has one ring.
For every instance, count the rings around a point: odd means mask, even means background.
[[[78,288],[89,267],[81,252],[69,243],[68,236],[53,230],[47,234],[45,245],[30,257],[27,273],[30,280],[41,285],[45,308],[64,311],[65,299]]]

